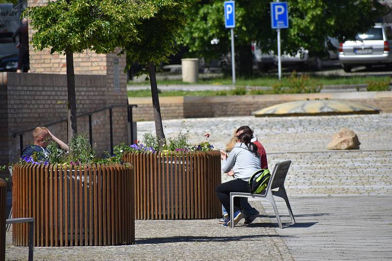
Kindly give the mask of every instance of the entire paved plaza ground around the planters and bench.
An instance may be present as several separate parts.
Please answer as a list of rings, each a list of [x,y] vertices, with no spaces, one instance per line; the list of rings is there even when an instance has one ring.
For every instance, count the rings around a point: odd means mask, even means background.
[[[291,159],[286,187],[297,224],[277,199],[284,229],[268,203],[252,201],[261,215],[250,226],[223,228],[217,219],[136,220],[136,244],[36,247],[37,260],[387,260],[392,259],[392,114],[322,117],[230,117],[164,121],[167,136],[190,130],[190,141],[224,148],[233,130],[249,125],[266,147],[270,168]],[[361,150],[326,151],[341,127],[356,131]],[[153,132],[138,123],[138,139]],[[222,180],[228,180],[222,174]],[[6,259],[25,260],[11,245]]]

